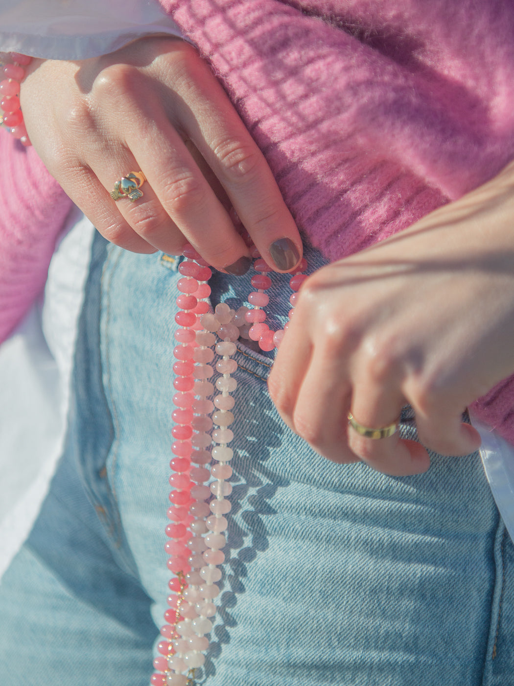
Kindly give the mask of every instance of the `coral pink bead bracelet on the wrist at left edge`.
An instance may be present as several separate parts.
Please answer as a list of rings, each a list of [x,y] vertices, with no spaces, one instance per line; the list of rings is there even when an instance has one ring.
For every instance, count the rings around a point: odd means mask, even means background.
[[[1,66],[1,74],[5,78],[0,80],[0,108],[3,110],[0,124],[7,127],[14,138],[28,146],[31,143],[20,108],[20,87],[25,78],[24,67],[32,62],[32,57],[12,52],[10,60],[9,63]]]

